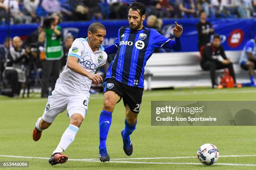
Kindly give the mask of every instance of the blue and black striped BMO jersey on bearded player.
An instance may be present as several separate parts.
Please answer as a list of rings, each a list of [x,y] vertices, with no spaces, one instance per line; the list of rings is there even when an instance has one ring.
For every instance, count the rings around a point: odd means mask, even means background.
[[[154,29],[143,27],[141,30],[131,30],[129,27],[121,27],[114,43],[118,50],[108,67],[106,79],[113,78],[125,85],[143,88],[147,60],[154,48],[161,48],[168,41],[173,40]]]

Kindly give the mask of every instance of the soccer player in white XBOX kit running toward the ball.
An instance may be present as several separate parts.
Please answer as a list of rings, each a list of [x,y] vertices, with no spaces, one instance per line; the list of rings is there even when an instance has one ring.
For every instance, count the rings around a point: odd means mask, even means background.
[[[101,45],[105,36],[104,25],[92,23],[88,28],[87,38],[74,40],[64,71],[59,75],[52,95],[48,97],[43,116],[36,122],[33,130],[35,141],[41,138],[42,130],[47,129],[55,117],[67,109],[70,124],[49,159],[51,165],[67,162],[68,157],[62,155],[62,152],[74,141],[87,113],[91,83],[102,82],[102,77],[95,72],[107,60],[107,54]]]

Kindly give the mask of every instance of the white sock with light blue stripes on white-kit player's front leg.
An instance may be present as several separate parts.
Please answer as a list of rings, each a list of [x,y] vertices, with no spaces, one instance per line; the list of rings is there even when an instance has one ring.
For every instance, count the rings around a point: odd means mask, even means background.
[[[52,154],[62,153],[64,150],[66,150],[67,147],[69,147],[69,145],[74,141],[78,129],[79,128],[77,126],[69,124],[69,127],[61,136],[61,141],[59,142],[59,145],[57,146],[56,150],[53,151]]]

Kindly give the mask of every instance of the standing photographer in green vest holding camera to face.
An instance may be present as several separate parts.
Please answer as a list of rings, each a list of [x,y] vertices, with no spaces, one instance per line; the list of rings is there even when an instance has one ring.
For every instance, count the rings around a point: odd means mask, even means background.
[[[63,56],[63,48],[61,45],[61,27],[59,23],[59,15],[53,14],[44,18],[43,29],[39,34],[39,42],[44,42],[45,56],[42,62],[43,77],[41,97],[48,97],[50,76],[51,91],[54,90],[56,80],[59,77],[61,58]]]

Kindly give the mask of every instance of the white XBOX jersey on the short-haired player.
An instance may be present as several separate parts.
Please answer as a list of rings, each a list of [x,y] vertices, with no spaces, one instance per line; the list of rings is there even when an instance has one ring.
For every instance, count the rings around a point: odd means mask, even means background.
[[[87,38],[75,39],[69,49],[68,56],[77,57],[79,65],[92,74],[95,73],[98,67],[106,63],[108,57],[102,46],[99,50],[92,52]],[[90,94],[91,83],[92,80],[69,69],[66,64],[63,72],[59,75],[54,90],[67,96],[84,96]]]

